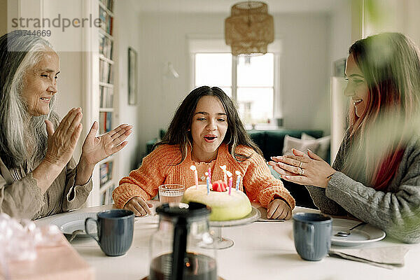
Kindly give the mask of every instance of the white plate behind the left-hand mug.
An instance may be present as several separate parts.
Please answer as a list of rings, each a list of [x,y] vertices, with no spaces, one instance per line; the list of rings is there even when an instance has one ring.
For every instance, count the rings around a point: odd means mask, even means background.
[[[86,218],[97,218],[97,212],[90,213],[69,213],[60,218],[56,218],[51,222],[52,225],[57,225],[64,235],[71,235],[74,230],[85,230]],[[97,235],[97,227],[95,223],[89,223],[89,232],[92,235]],[[86,233],[80,233],[77,237],[89,237]]]

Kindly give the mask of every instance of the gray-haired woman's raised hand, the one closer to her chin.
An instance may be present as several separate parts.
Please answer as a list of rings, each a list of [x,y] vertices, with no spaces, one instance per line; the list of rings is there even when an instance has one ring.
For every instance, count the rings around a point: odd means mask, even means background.
[[[71,109],[55,131],[50,120],[45,120],[48,134],[48,146],[44,158],[46,162],[63,169],[70,161],[82,132],[82,124],[80,123],[82,116],[80,108]]]

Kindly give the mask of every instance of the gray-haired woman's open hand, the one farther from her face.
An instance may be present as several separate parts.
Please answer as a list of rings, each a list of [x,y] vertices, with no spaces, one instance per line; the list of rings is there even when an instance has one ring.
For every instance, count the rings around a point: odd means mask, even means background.
[[[94,122],[82,146],[80,161],[85,161],[87,165],[96,165],[109,155],[120,151],[127,145],[127,141],[124,140],[132,133],[132,125],[124,124],[102,136],[95,137],[98,127],[98,123]]]

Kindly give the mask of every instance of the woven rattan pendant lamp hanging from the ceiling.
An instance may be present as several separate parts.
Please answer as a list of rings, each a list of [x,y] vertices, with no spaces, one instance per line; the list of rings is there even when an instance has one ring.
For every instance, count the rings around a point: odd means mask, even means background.
[[[274,20],[266,3],[246,1],[232,6],[225,20],[225,41],[232,55],[264,55],[274,41]]]

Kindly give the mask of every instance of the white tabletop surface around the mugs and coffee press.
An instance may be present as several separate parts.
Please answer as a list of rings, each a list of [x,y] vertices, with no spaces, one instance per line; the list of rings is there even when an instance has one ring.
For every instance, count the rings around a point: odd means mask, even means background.
[[[76,212],[94,212],[111,209],[112,205],[88,207]],[[293,213],[316,212],[314,209],[296,207]],[[68,214],[68,213],[67,213]],[[36,221],[46,225],[57,214]],[[148,274],[150,255],[149,241],[158,227],[158,216],[136,218],[134,240],[130,250],[119,257],[108,257],[102,253],[96,241],[76,238],[73,248],[94,267],[97,279],[142,279]],[[216,251],[218,275],[230,279],[419,279],[420,244],[402,244],[386,237],[369,247],[407,246],[405,266],[385,269],[363,262],[327,256],[318,262],[302,260],[293,243],[293,222],[254,222],[248,225],[223,228],[222,236],[235,244]]]

